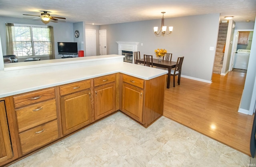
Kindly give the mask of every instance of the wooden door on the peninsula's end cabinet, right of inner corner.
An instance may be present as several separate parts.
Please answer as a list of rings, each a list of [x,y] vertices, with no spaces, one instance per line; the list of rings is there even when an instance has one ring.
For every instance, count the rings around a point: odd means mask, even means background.
[[[143,89],[123,83],[122,111],[143,124]]]

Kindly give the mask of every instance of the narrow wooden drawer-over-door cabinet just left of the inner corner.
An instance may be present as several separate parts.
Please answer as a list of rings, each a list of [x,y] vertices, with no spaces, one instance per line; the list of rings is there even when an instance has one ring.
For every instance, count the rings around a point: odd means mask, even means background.
[[[116,111],[116,74],[94,79],[94,117],[100,119]]]

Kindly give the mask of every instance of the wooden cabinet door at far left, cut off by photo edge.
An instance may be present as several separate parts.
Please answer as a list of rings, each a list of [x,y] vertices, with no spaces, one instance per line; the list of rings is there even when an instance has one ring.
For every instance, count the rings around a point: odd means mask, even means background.
[[[12,145],[4,101],[0,101],[0,163],[12,158]]]

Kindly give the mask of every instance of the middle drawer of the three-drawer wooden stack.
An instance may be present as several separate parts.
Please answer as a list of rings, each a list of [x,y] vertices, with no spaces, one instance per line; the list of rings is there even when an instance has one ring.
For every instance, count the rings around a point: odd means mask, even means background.
[[[19,132],[57,118],[56,101],[52,99],[16,110]]]

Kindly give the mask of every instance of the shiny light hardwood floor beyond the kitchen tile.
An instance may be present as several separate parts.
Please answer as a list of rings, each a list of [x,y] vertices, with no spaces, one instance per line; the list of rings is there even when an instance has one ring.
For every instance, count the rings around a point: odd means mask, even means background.
[[[238,112],[245,78],[239,72],[213,74],[212,83],[181,78],[165,90],[164,116],[250,155],[254,116]]]

